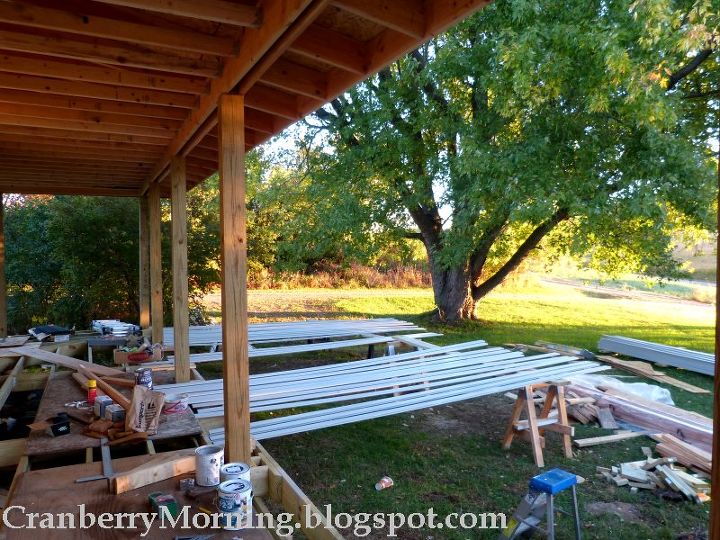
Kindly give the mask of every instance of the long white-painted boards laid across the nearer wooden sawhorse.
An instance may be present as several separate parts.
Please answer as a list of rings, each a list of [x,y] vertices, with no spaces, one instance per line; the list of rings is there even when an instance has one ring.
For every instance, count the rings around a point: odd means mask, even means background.
[[[610,369],[559,354],[525,356],[482,340],[250,377],[250,412],[325,406],[251,423],[257,440],[381,418]],[[223,381],[159,385],[186,393],[199,418],[222,417]],[[340,404],[342,403],[342,404]],[[337,405],[340,404],[340,405]],[[211,429],[214,443],[222,429]]]

